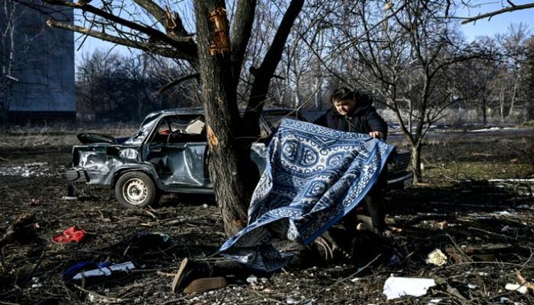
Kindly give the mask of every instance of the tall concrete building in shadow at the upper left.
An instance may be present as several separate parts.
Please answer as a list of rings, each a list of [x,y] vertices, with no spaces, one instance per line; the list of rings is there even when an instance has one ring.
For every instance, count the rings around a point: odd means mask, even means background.
[[[13,10],[10,16],[6,10],[0,13],[1,30],[13,24],[13,44],[0,45],[1,76],[10,71],[8,122],[74,122],[74,33],[50,28],[45,24],[49,16],[26,6],[15,3]],[[61,8],[54,17],[72,22],[72,9]]]

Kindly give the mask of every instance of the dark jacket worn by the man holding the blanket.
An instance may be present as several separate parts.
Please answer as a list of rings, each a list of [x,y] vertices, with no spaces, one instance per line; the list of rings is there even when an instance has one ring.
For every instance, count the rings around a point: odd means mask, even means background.
[[[371,106],[373,99],[363,93],[357,94],[356,106],[351,113],[341,115],[334,106],[330,107],[324,115],[315,120],[314,124],[325,126],[339,131],[351,131],[355,133],[367,133],[380,131],[387,138],[387,123],[376,113]]]

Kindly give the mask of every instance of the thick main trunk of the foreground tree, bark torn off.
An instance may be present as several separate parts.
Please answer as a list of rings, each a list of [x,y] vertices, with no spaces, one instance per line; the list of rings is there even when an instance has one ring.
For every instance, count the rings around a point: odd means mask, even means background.
[[[198,58],[202,101],[207,119],[209,172],[215,178],[215,196],[223,215],[225,232],[231,236],[247,223],[250,190],[245,168],[250,156],[232,135],[238,135],[236,87],[229,56],[228,21],[224,0],[195,0]],[[210,16],[211,15],[211,19]],[[215,17],[214,17],[215,16]],[[225,40],[226,39],[226,40]],[[220,166],[220,165],[225,166]]]

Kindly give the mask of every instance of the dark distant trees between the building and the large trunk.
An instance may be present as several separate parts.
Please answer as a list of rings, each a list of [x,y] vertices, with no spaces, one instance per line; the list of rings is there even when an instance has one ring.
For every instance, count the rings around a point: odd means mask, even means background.
[[[197,99],[191,83],[159,92],[180,73],[179,66],[146,54],[86,54],[76,69],[78,119],[138,123],[155,110],[191,106]]]

